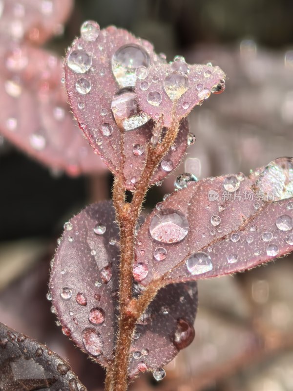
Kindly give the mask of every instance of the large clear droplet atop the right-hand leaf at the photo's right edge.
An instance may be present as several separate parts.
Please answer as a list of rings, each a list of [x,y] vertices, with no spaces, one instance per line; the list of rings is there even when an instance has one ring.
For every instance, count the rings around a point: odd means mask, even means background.
[[[280,157],[273,160],[258,175],[253,190],[263,200],[279,201],[293,196],[293,158]]]

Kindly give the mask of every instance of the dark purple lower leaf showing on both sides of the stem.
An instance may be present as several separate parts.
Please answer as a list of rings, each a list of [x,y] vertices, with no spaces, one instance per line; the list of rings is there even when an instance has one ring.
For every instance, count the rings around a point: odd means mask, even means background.
[[[115,219],[112,203],[105,201],[65,223],[50,281],[63,332],[103,366],[113,360],[117,332],[120,249]],[[139,285],[134,293],[140,294]],[[170,284],[159,292],[137,325],[129,376],[166,364],[192,341],[196,308],[194,282]]]

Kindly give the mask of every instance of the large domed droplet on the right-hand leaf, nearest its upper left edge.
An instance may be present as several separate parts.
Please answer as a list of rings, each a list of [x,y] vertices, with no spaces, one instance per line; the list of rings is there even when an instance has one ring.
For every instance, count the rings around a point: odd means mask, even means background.
[[[163,243],[177,243],[188,234],[189,224],[182,212],[174,209],[162,209],[149,224],[153,239]]]

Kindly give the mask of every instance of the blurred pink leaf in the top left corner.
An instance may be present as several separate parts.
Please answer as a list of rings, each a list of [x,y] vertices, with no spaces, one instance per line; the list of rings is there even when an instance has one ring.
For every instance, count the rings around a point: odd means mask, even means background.
[[[2,5],[3,2],[3,5]],[[0,3],[0,36],[11,41],[41,44],[63,32],[72,0],[4,0]]]

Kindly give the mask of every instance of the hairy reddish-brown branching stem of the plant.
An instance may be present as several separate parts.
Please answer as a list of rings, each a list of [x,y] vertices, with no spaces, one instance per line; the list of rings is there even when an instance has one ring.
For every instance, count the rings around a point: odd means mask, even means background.
[[[154,128],[154,135],[160,136],[162,123],[158,121]],[[126,187],[123,173],[125,155],[124,141],[122,141],[122,163],[120,175],[115,178],[113,187],[113,203],[116,209],[117,221],[120,227],[120,317],[116,341],[115,359],[111,369],[107,371],[105,391],[126,391],[128,387],[128,364],[132,335],[136,323],[145,312],[147,306],[163,286],[161,282],[148,285],[139,299],[132,298],[132,267],[135,257],[135,228],[141,212],[151,177],[162,158],[174,143],[179,130],[179,123],[174,122],[161,141],[156,145],[151,142],[146,149],[146,164],[130,203],[125,201]]]

